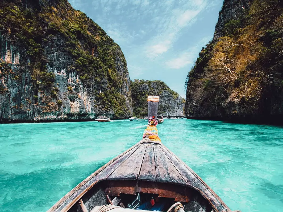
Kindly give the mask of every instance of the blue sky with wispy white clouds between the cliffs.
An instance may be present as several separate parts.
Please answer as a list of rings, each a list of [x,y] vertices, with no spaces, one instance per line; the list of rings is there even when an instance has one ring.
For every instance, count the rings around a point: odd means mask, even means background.
[[[185,81],[212,38],[223,0],[69,0],[122,49],[131,80],[162,80],[185,98]]]

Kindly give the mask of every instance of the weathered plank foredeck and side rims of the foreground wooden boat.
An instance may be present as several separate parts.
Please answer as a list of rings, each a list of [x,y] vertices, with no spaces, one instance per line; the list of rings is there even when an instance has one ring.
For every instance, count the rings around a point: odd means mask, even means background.
[[[194,188],[215,211],[230,211],[215,192],[161,142],[143,139],[99,168],[66,194],[49,211],[66,211],[102,180],[137,180],[178,184]]]

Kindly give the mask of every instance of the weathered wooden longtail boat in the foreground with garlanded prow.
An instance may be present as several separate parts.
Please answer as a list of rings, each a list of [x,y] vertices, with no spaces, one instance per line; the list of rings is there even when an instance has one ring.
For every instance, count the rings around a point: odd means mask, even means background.
[[[162,144],[154,118],[156,99],[148,100],[148,114],[154,125],[147,126],[143,139],[83,180],[49,212],[231,211],[191,168]]]

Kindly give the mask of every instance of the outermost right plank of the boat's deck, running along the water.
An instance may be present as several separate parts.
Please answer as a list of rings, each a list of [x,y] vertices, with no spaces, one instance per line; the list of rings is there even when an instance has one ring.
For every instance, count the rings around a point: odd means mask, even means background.
[[[222,205],[222,201],[220,202],[221,199],[217,196],[217,194],[215,194],[215,192],[210,189],[209,186],[191,168],[186,166],[177,156],[173,155],[173,153],[164,145],[161,145],[160,148],[170,159],[171,163],[175,166],[179,173],[184,177],[186,183],[200,192],[201,195],[205,197],[211,205],[213,205],[213,208],[216,211],[222,211],[223,208],[229,210],[227,205]]]

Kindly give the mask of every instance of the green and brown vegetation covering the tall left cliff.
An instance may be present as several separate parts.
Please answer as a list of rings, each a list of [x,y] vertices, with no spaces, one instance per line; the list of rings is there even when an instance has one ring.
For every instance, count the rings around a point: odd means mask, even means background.
[[[130,91],[127,89],[127,94],[121,94],[128,71],[120,47],[86,14],[74,10],[67,0],[2,1],[0,37],[2,41],[8,40],[20,54],[19,66],[13,73],[10,73],[12,65],[1,61],[0,77],[6,82],[13,75],[14,83],[19,85],[24,80],[16,81],[19,76],[29,72],[34,91],[30,98],[38,109],[54,112],[61,108],[54,75],[54,69],[60,66],[53,67],[53,72],[48,70],[56,58],[48,58],[51,56],[47,52],[52,51],[52,45],[61,42],[63,48],[59,53],[65,55],[67,66],[61,69],[66,68],[67,74],[75,73],[76,83],[84,88],[93,88],[93,98],[102,104],[105,113],[114,113],[115,118],[130,115],[125,98],[126,95],[130,101]],[[117,58],[123,70],[118,70]],[[68,84],[66,89],[72,93],[77,88]],[[7,86],[0,83],[0,94],[7,90]],[[38,102],[39,99],[44,101]]]

